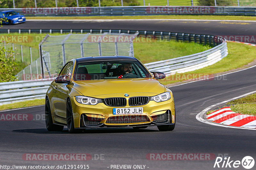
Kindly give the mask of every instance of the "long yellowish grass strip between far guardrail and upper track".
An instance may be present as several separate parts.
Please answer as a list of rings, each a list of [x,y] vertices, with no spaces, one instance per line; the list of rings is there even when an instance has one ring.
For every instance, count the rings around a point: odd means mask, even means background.
[[[225,16],[225,15],[148,15],[148,16],[75,16],[75,17],[26,17],[26,19],[216,19],[216,20],[250,20],[254,16]]]

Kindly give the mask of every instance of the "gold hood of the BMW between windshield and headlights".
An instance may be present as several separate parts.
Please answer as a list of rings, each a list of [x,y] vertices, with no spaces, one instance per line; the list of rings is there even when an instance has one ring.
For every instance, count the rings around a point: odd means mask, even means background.
[[[84,96],[94,96],[99,98],[121,97],[125,93],[130,96],[138,96],[138,93],[145,96],[154,96],[165,92],[165,86],[154,78],[135,79],[109,79],[109,80],[86,80],[73,81],[73,88]],[[114,94],[114,95],[110,95]],[[143,95],[143,96],[144,96]]]

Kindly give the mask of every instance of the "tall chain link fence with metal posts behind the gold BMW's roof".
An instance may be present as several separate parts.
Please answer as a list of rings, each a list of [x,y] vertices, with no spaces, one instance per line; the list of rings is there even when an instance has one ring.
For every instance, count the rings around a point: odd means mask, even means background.
[[[126,33],[72,34],[50,36],[39,44],[44,78],[56,76],[71,59],[85,56],[133,54],[133,39],[138,35]],[[32,73],[33,74],[33,73]]]

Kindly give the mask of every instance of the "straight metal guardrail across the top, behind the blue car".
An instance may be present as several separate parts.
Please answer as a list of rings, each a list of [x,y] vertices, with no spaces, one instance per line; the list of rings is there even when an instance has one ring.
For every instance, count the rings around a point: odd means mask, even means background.
[[[246,15],[256,16],[256,7],[220,6],[114,6],[60,8],[0,8],[25,16],[131,16],[131,15]]]

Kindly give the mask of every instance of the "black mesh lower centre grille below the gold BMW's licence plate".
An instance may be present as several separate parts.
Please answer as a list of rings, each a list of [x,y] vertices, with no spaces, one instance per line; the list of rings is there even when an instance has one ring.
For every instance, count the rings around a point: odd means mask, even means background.
[[[124,115],[109,117],[106,121],[107,124],[128,124],[128,123],[142,123],[150,122],[149,118],[145,115]]]

